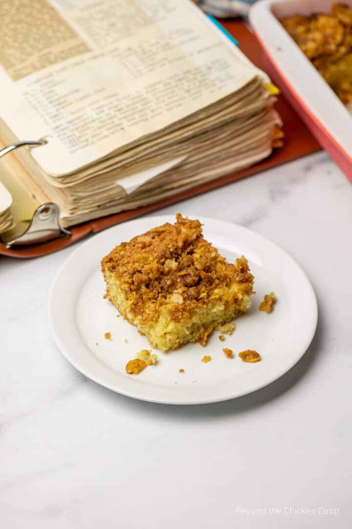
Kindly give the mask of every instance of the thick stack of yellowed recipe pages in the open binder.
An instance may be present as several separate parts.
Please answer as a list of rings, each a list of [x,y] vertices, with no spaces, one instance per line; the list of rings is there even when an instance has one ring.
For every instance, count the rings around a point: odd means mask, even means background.
[[[2,144],[43,142],[1,158],[2,230],[48,202],[63,226],[145,206],[280,144],[269,79],[189,0],[2,0],[0,15]]]

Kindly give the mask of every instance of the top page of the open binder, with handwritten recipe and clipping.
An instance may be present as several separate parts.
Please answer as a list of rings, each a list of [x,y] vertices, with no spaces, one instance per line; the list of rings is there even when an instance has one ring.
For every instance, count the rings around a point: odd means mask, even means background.
[[[17,138],[47,136],[32,156],[52,175],[163,129],[257,74],[189,0],[2,0],[0,14],[0,118]]]

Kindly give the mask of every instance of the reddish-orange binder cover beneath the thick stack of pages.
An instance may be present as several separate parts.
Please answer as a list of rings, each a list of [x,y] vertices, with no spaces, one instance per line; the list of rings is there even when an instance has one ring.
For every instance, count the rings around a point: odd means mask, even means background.
[[[231,33],[237,41],[239,41],[240,48],[246,54],[246,56],[249,57],[249,59],[256,66],[265,69],[263,66],[262,52],[259,43],[254,35],[248,30],[248,28],[246,28],[242,22],[237,20],[228,20],[225,22],[222,21],[222,24],[224,28],[229,31],[229,33]],[[54,239],[53,241],[41,244],[33,244],[13,249],[6,249],[4,245],[0,243],[0,254],[18,258],[44,256],[47,253],[60,250],[69,244],[79,241],[89,233],[96,233],[109,226],[113,226],[114,224],[131,220],[132,218],[139,217],[145,213],[155,211],[156,209],[168,206],[170,204],[176,204],[177,202],[180,202],[180,200],[205,193],[205,191],[230,184],[231,182],[239,180],[240,178],[254,175],[260,171],[264,171],[265,169],[270,169],[271,167],[278,166],[281,163],[285,163],[290,160],[294,160],[295,158],[299,158],[301,156],[305,156],[306,154],[320,150],[320,145],[317,140],[311,135],[308,129],[306,129],[306,126],[303,125],[298,115],[292,110],[283,96],[279,96],[278,102],[275,104],[275,108],[279,112],[283,121],[283,131],[285,134],[284,147],[275,149],[269,158],[256,163],[254,166],[230,175],[223,176],[221,178],[217,178],[216,180],[207,182],[206,184],[198,185],[192,189],[183,191],[182,193],[177,193],[171,197],[165,198],[164,200],[160,200],[155,204],[138,207],[137,209],[129,209],[128,211],[117,213],[116,215],[109,215],[107,217],[99,218],[98,220],[85,222],[78,226],[73,226],[70,228],[72,231],[72,235],[70,237]]]

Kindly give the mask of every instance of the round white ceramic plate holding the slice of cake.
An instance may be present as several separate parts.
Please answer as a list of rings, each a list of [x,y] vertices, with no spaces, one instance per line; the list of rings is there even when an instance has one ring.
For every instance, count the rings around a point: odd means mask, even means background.
[[[127,375],[128,360],[150,349],[135,327],[117,317],[103,299],[105,287],[100,260],[117,244],[151,227],[174,222],[172,216],[139,218],[113,226],[82,244],[56,275],[49,296],[49,320],[63,355],[83,375],[123,395],[165,404],[203,404],[250,393],[288,371],[305,353],[317,324],[317,302],[305,273],[277,245],[251,230],[211,218],[199,219],[205,238],[229,261],[244,254],[255,276],[253,306],[236,320],[226,340],[214,332],[203,348],[188,344],[161,353],[158,364],[138,375]],[[260,312],[264,294],[274,291],[278,302],[271,314]],[[110,332],[112,340],[105,340]],[[127,342],[127,343],[126,343]],[[222,348],[238,353],[255,349],[262,361],[227,359]],[[203,355],[211,355],[208,363]],[[179,373],[183,368],[184,373]]]

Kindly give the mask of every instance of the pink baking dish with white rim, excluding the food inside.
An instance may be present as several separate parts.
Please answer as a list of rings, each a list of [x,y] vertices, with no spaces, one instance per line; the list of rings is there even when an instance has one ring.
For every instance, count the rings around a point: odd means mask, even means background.
[[[250,11],[250,23],[274,83],[352,181],[352,115],[278,21],[293,14],[328,13],[335,2],[261,0]],[[352,7],[352,0],[344,3]]]

